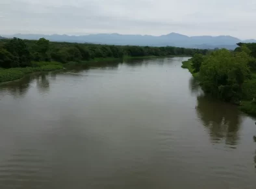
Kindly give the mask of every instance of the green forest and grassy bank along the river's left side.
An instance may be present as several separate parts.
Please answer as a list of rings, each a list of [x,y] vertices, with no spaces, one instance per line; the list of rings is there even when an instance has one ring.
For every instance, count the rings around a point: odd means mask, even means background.
[[[38,71],[62,69],[69,63],[88,63],[124,57],[192,56],[208,50],[178,47],[139,47],[38,40],[0,39],[0,82]]]

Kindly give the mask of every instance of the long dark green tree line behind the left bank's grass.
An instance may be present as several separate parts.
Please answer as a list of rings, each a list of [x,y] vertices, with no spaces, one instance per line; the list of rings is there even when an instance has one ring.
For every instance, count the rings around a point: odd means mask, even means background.
[[[0,67],[31,67],[32,61],[87,61],[94,58],[123,58],[123,56],[192,56],[207,54],[208,50],[179,47],[139,47],[96,45],[88,43],[51,42],[39,40],[0,39]]]

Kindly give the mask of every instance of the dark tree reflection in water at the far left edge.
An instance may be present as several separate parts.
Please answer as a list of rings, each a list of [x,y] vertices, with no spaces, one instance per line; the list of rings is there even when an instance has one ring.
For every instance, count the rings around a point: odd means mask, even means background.
[[[2,84],[0,85],[0,94],[4,95],[8,93],[14,97],[25,96],[25,94],[29,90],[32,79],[32,76],[26,76],[25,78],[16,82]]]

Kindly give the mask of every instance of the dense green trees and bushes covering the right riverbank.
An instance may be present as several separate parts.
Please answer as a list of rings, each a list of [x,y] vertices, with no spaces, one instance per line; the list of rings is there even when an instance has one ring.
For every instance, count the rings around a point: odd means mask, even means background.
[[[205,91],[220,100],[240,104],[241,109],[256,115],[256,43],[238,43],[231,52],[214,50],[183,62]]]

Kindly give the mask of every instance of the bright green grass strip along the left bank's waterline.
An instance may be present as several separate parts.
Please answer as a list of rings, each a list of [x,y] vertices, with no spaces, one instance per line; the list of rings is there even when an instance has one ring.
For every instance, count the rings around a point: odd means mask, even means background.
[[[9,82],[23,78],[26,74],[41,71],[54,71],[62,69],[61,63],[57,62],[32,62],[33,67],[16,67],[10,69],[0,69],[0,82]]]

